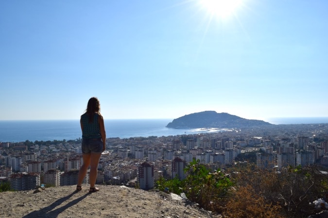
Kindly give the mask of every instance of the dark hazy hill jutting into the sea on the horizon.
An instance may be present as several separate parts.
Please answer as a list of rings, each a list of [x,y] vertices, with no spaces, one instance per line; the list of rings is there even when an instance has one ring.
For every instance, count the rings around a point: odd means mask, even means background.
[[[215,111],[203,111],[191,113],[177,119],[166,125],[167,128],[185,129],[185,128],[241,128],[241,127],[259,127],[273,125],[261,120],[248,120],[228,113],[217,113]]]

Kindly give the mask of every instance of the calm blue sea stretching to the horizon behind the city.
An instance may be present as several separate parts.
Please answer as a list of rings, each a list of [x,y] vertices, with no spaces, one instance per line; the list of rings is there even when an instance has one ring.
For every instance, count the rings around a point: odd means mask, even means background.
[[[104,120],[106,137],[128,139],[131,137],[176,136],[211,133],[224,129],[173,129],[165,126],[173,119]],[[328,117],[270,118],[271,124],[323,124]],[[76,140],[82,138],[79,120],[2,120],[0,142]]]

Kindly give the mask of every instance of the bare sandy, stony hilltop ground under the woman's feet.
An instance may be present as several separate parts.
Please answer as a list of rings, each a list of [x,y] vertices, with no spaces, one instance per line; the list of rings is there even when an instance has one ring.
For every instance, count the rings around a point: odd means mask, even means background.
[[[180,196],[124,186],[50,187],[0,193],[0,218],[213,218]]]

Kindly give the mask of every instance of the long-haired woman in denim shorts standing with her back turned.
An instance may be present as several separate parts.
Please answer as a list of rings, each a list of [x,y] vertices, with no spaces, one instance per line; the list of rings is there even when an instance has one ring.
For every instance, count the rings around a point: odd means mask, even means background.
[[[98,174],[98,162],[102,152],[106,149],[104,118],[100,113],[100,103],[96,97],[89,99],[86,112],[81,115],[80,123],[82,130],[83,164],[79,171],[76,190],[82,190],[82,182],[90,166],[89,192],[96,192],[99,191],[99,188],[95,187]]]

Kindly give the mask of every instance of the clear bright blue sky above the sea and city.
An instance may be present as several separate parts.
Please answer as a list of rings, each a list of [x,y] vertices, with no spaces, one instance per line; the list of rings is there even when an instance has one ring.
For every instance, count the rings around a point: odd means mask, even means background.
[[[328,1],[0,1],[0,120],[328,117]]]

